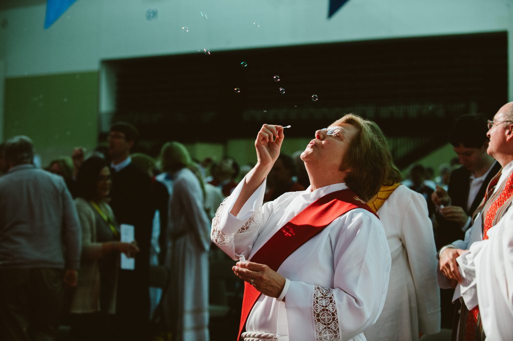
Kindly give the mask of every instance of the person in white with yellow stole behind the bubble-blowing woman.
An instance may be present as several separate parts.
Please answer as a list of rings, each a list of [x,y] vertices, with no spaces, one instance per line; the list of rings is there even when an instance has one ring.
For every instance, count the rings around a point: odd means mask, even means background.
[[[373,123],[374,133],[385,137]],[[440,331],[440,291],[433,229],[424,197],[401,185],[401,174],[388,153],[388,177],[369,201],[385,228],[392,257],[383,311],[365,330],[367,340],[417,340]]]

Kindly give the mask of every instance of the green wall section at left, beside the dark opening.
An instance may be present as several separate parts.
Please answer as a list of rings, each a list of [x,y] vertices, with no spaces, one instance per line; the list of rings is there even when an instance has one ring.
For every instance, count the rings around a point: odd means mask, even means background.
[[[73,148],[91,150],[98,136],[98,73],[83,72],[7,78],[4,138],[27,135],[46,166],[71,156]]]

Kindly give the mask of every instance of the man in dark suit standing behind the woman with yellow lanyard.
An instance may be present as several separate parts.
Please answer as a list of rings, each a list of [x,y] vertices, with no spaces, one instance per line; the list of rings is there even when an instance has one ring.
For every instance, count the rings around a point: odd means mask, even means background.
[[[149,338],[149,254],[154,208],[150,177],[135,166],[130,150],[138,137],[135,127],[114,123],[108,137],[112,160],[110,206],[119,224],[134,226],[140,252],[134,270],[121,270],[117,288],[117,321],[120,339]]]

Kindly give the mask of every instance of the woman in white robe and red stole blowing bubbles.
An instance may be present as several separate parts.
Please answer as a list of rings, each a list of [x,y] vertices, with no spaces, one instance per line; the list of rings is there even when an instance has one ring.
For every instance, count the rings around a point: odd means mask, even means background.
[[[264,124],[257,165],[220,206],[211,239],[245,283],[242,338],[365,339],[385,302],[390,252],[365,201],[386,177],[369,122],[345,115],[315,132],[301,159],[311,185],[262,205],[281,125]],[[241,334],[239,334],[241,336]]]

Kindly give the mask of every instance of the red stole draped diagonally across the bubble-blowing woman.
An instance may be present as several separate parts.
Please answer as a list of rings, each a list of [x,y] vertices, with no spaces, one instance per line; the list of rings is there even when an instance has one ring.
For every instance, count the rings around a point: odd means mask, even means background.
[[[292,218],[274,236],[271,237],[251,257],[250,261],[266,264],[274,271],[297,250],[301,245],[321,232],[338,217],[354,208],[364,208],[376,215],[369,206],[352,190],[343,189],[327,194],[303,209]],[[257,302],[261,292],[248,282],[244,282],[244,297],[242,300],[241,325],[238,339],[246,325],[251,309]]]

